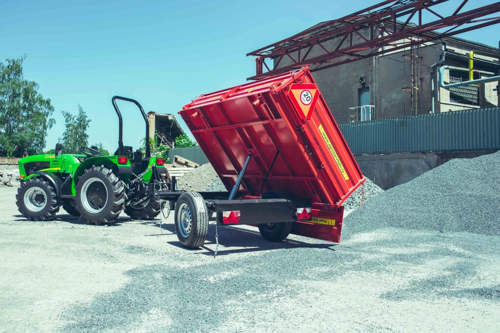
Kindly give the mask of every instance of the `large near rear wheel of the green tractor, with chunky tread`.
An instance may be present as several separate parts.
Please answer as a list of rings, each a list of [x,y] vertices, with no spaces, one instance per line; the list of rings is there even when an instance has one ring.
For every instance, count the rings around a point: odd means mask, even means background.
[[[125,198],[123,182],[103,165],[94,165],[78,177],[76,209],[87,223],[100,226],[116,222]]]

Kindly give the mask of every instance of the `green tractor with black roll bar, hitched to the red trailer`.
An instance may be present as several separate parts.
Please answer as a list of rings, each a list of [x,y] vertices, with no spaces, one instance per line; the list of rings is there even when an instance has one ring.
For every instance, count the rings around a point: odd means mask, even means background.
[[[123,146],[123,122],[116,100],[134,103],[146,123],[145,156]],[[17,190],[19,212],[31,221],[54,218],[59,207],[96,225],[116,222],[125,212],[136,220],[151,220],[161,210],[158,191],[164,186],[162,158],[151,158],[149,123],[142,106],[133,99],[114,96],[118,115],[118,149],[101,156],[97,147],[80,147],[81,155],[63,154],[57,144],[53,155],[33,155],[19,160],[21,185]],[[157,168],[158,167],[158,168]]]

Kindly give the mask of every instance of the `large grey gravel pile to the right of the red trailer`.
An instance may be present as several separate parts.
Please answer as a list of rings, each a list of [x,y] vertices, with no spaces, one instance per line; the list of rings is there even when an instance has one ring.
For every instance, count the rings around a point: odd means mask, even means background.
[[[395,227],[499,236],[499,165],[500,152],[450,160],[366,201],[342,234]]]

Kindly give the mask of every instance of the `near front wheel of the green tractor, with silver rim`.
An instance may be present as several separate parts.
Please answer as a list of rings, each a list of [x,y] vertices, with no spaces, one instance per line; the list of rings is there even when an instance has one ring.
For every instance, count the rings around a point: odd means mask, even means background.
[[[15,195],[19,212],[30,221],[52,220],[59,211],[59,200],[54,188],[40,177],[21,182]]]

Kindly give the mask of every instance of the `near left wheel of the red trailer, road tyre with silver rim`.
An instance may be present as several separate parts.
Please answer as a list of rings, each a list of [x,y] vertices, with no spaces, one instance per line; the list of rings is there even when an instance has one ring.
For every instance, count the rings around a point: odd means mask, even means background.
[[[175,234],[183,247],[199,248],[208,233],[208,209],[196,192],[182,193],[175,204]]]

